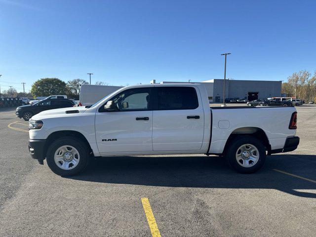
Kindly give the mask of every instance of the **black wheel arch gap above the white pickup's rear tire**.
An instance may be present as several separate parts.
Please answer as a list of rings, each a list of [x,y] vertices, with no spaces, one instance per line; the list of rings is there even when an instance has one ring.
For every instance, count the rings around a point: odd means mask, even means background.
[[[224,150],[223,150],[223,155],[226,154],[226,151],[229,147],[229,144],[238,136],[244,136],[244,135],[248,135],[248,136],[253,136],[257,139],[259,139],[260,141],[263,142],[263,145],[265,146],[266,150],[269,152],[271,151],[271,145],[269,143],[269,139],[267,134],[265,133],[265,131],[262,128],[259,127],[239,127],[237,129],[235,129],[230,136],[228,137]]]

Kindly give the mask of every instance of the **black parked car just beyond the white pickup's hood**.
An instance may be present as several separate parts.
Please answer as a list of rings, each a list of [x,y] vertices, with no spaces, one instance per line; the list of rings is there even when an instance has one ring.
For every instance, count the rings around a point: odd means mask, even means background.
[[[23,118],[28,121],[32,116],[39,114],[45,110],[53,110],[59,108],[75,107],[76,103],[68,99],[45,99],[33,105],[23,105],[16,108],[16,117]]]

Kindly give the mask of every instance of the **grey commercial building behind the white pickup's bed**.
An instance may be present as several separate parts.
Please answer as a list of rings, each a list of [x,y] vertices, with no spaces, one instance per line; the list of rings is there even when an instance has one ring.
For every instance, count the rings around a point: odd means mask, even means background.
[[[156,83],[152,80],[151,83]],[[175,81],[161,81],[160,83],[188,83]],[[208,99],[212,103],[223,103],[224,79],[211,79],[202,82],[192,82],[204,84],[207,90]],[[282,81],[275,80],[226,80],[225,98],[266,99],[269,97],[281,96]]]

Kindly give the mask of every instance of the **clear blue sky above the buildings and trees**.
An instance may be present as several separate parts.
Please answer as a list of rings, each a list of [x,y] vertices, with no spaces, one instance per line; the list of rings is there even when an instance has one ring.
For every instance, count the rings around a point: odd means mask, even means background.
[[[316,70],[315,0],[0,0],[1,90],[40,78],[286,80]]]

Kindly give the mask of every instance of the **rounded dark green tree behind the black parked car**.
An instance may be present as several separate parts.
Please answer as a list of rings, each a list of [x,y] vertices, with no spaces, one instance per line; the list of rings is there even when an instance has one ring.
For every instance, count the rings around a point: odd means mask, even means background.
[[[31,93],[34,97],[65,95],[66,91],[66,83],[58,78],[39,79],[33,83],[31,88]]]

